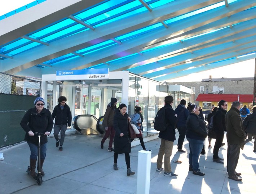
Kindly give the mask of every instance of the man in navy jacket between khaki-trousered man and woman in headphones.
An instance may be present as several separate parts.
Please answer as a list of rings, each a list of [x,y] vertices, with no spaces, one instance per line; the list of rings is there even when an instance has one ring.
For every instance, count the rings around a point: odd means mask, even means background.
[[[178,152],[184,153],[185,150],[182,150],[183,142],[187,132],[186,121],[189,116],[189,110],[186,109],[186,100],[182,99],[180,104],[174,110],[174,114],[177,114],[177,129],[180,134],[178,139]]]

